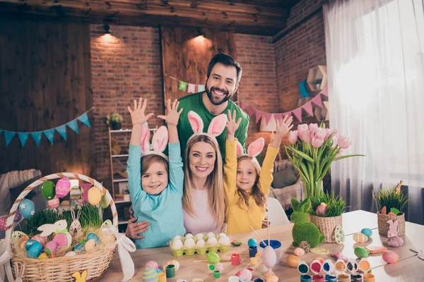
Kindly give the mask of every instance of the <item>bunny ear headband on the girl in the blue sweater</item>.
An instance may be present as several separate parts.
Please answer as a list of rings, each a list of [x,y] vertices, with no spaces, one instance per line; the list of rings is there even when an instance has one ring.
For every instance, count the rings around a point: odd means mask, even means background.
[[[165,125],[160,126],[152,137],[152,145],[150,144],[150,129],[147,125],[143,124],[141,129],[141,154],[146,156],[148,154],[158,154],[168,160],[167,156],[163,154],[168,142],[168,132]],[[151,150],[153,147],[153,151]]]

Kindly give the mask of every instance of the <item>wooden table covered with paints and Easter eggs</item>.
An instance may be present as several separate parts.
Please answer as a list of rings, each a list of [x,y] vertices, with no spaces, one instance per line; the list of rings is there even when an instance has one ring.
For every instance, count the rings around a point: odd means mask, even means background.
[[[363,244],[355,243],[355,241],[353,241],[352,234],[360,232],[361,229],[365,227],[373,230],[370,240]],[[271,238],[280,240],[282,245],[280,262],[272,269],[278,278],[280,278],[280,281],[300,281],[300,274],[298,273],[298,270],[290,268],[285,263],[285,258],[288,255],[293,255],[294,248],[291,245],[293,242],[291,235],[292,228],[293,224],[270,228]],[[385,243],[387,238],[380,237],[377,231],[377,214],[364,211],[355,211],[343,214],[343,231],[346,234],[346,241],[343,245],[322,244],[319,247],[329,249],[330,253],[341,252],[346,257],[354,259],[356,256],[353,253],[353,248],[356,246],[387,246]],[[261,238],[266,239],[266,229],[261,229],[257,232]],[[418,259],[416,253],[411,252],[410,250],[411,248],[422,248],[424,250],[423,235],[424,226],[407,222],[406,235],[403,236],[404,245],[398,248],[389,247],[389,250],[394,250],[399,255],[399,262],[396,264],[386,264],[386,262],[382,260],[381,254],[371,255],[369,257],[369,261],[372,266],[372,273],[376,276],[376,281],[424,281],[424,261]],[[238,266],[232,266],[230,262],[223,262],[224,270],[221,272],[220,278],[213,278],[212,271],[207,269],[207,262],[193,262],[194,260],[206,259],[206,255],[193,255],[189,257],[184,255],[182,257],[175,258],[169,247],[161,247],[156,249],[137,250],[136,252],[131,253],[131,257],[133,258],[134,265],[136,267],[134,278],[132,278],[131,281],[141,281],[146,262],[153,260],[158,262],[161,266],[170,259],[177,259],[181,267],[179,271],[177,271],[177,276],[175,278],[168,278],[168,282],[174,282],[177,281],[177,279],[185,279],[191,282],[193,278],[202,278],[204,281],[228,281],[228,276],[234,275],[237,271],[244,269],[245,267],[254,268],[253,276],[264,279],[264,274],[267,271],[266,267],[260,262],[257,266],[250,265],[247,247],[247,240],[249,240],[249,238],[257,238],[257,236],[254,235],[253,232],[240,233],[230,236],[230,239],[240,240],[242,245],[240,247],[232,247],[230,252],[225,254],[218,253],[218,255],[220,255],[221,259],[228,259],[230,258],[231,253],[238,252],[242,257],[242,262]],[[329,255],[315,255],[307,253],[300,257],[300,259],[310,264],[314,257],[322,257],[323,259],[331,258]],[[101,281],[117,282],[120,281],[122,277],[123,274],[119,258],[115,253],[114,259],[112,259],[112,262],[110,263],[110,269],[108,269]]]

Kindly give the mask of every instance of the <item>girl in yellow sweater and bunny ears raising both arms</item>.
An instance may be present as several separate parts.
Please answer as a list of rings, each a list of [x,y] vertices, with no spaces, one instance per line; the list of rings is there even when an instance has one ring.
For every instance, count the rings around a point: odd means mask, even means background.
[[[265,203],[273,177],[273,161],[276,159],[283,137],[293,127],[293,118],[285,116],[276,120],[276,135],[268,146],[264,164],[259,165],[256,156],[264,148],[264,138],[254,141],[243,154],[240,143],[234,137],[241,118],[236,121],[235,112],[228,111],[227,142],[224,165],[225,216],[227,234],[260,229],[265,218]],[[238,157],[237,157],[238,154]]]

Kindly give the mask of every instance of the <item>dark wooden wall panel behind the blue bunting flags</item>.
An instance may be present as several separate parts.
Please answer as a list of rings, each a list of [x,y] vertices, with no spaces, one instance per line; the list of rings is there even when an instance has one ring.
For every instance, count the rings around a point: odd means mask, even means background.
[[[0,20],[0,128],[33,132],[63,125],[93,106],[90,89],[90,27],[78,23]],[[92,114],[88,114],[93,124]],[[79,121],[79,134],[67,128],[67,140],[54,133],[54,144],[28,137],[6,147],[0,135],[0,173],[37,168],[95,172],[92,128]],[[95,177],[95,176],[93,176]]]

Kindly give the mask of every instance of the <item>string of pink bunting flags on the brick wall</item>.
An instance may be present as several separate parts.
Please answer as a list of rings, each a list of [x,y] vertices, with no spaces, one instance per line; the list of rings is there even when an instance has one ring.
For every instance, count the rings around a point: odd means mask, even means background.
[[[307,114],[310,116],[314,116],[314,112],[312,111],[312,103],[322,108],[322,98],[321,95],[325,95],[328,97],[328,90],[327,87],[325,87],[317,96],[315,96],[313,99],[310,100],[310,102],[305,103],[304,105],[293,109],[291,111],[286,111],[285,113],[266,113],[264,111],[259,111],[258,109],[255,109],[253,106],[249,106],[245,102],[240,102],[240,108],[243,111],[246,111],[247,114],[249,114],[250,118],[253,118],[253,116],[256,117],[256,123],[258,123],[261,120],[262,116],[265,116],[265,123],[268,125],[269,121],[271,120],[272,116],[276,119],[281,119],[283,116],[288,115],[290,116],[293,114],[296,118],[298,118],[299,122],[302,122],[302,109],[304,109]]]

